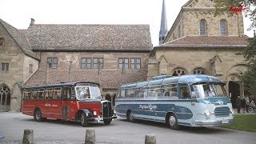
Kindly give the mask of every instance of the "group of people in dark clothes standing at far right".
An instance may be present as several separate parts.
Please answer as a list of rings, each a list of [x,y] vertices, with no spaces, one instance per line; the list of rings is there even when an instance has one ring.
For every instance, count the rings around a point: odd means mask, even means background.
[[[242,99],[240,98],[240,96],[238,96],[237,100],[236,100],[236,106],[238,108],[238,114],[240,114],[240,110],[242,109],[242,113],[249,113],[249,107],[252,107],[255,113],[255,103],[254,100],[252,100],[250,102],[249,97],[242,97]]]

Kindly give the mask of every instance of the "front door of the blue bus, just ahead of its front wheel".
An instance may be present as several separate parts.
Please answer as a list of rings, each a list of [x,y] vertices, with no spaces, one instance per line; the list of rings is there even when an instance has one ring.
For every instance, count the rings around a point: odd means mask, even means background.
[[[178,124],[191,126],[193,122],[194,101],[190,96],[190,87],[186,83],[178,85],[179,102],[176,106]]]

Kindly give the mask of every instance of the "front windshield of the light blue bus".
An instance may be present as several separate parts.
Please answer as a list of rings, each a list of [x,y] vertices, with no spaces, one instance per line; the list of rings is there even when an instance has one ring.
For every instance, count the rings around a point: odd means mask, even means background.
[[[192,85],[191,92],[193,98],[226,97],[219,83],[197,83]]]

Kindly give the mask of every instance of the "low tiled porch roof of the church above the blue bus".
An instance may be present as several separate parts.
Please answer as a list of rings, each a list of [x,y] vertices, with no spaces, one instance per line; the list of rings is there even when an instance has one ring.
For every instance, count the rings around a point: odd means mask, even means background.
[[[244,37],[235,36],[186,36],[154,48],[241,48],[249,43]]]

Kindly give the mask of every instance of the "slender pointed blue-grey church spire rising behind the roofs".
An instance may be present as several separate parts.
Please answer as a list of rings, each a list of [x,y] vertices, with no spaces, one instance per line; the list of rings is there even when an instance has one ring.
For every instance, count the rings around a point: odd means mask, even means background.
[[[159,45],[162,44],[163,40],[168,34],[167,28],[167,19],[166,19],[166,3],[165,0],[162,1],[162,17],[161,17],[161,26],[159,31]]]

